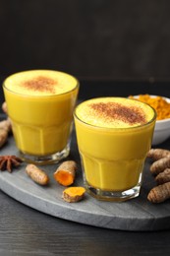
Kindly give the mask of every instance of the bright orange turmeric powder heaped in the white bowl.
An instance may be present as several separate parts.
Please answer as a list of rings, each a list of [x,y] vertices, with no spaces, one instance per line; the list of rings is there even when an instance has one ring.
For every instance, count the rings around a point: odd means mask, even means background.
[[[157,113],[157,120],[170,118],[170,103],[162,96],[140,95],[138,98],[135,96],[129,98],[138,99],[152,106]]]

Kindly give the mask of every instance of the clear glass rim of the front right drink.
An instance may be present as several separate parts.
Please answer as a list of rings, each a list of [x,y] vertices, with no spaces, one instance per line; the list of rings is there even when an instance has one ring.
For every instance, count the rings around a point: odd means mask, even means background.
[[[123,96],[103,96],[103,97],[95,97],[95,98],[109,98],[109,97],[121,97],[121,98],[127,98],[128,100],[137,100],[137,99],[133,99],[133,98],[128,98],[128,97],[123,97]],[[90,99],[86,99],[85,101],[89,101],[91,99],[95,99],[95,98],[90,98]],[[97,126],[97,125],[94,125],[94,124],[89,124],[87,122],[85,122],[84,120],[82,120],[78,115],[77,115],[77,109],[78,107],[84,103],[85,101],[82,101],[81,103],[79,103],[75,109],[74,109],[74,117],[76,119],[78,119],[81,123],[85,124],[86,126],[88,127],[91,127],[91,128],[95,128],[95,129],[98,129],[98,130],[106,130],[106,131],[125,131],[125,130],[130,130],[130,129],[134,129],[134,130],[137,130],[137,129],[140,129],[142,127],[145,127],[145,126],[148,126],[149,124],[151,124],[153,121],[156,121],[156,116],[157,116],[157,113],[156,113],[156,110],[150,106],[148,103],[145,103],[145,102],[142,102],[140,101],[140,103],[142,104],[146,104],[147,106],[149,106],[152,110],[153,110],[153,117],[147,121],[146,123],[144,124],[141,124],[141,125],[137,125],[137,126],[131,126],[131,127],[105,127],[105,126]]]

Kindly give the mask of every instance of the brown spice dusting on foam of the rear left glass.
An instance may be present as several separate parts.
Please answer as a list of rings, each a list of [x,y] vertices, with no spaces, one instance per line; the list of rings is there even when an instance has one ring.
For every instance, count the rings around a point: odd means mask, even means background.
[[[39,76],[23,82],[22,86],[34,92],[48,92],[53,94],[55,93],[54,85],[56,84],[57,82],[51,78]]]

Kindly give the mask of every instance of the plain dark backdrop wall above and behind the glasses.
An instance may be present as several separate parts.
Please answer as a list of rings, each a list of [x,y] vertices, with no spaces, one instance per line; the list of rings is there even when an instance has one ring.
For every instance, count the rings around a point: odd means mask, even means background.
[[[168,0],[0,0],[0,75],[170,77]]]

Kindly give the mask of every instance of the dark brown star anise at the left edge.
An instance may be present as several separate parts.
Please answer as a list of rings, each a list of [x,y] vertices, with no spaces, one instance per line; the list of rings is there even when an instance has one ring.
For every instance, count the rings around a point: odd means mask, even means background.
[[[12,168],[19,166],[22,161],[16,156],[0,156],[0,170],[12,172]]]

